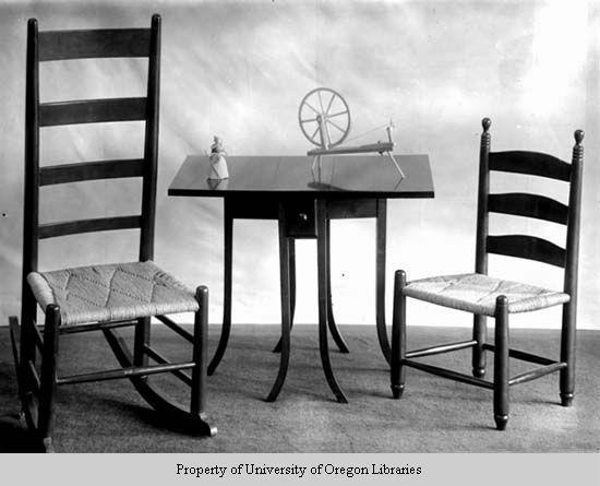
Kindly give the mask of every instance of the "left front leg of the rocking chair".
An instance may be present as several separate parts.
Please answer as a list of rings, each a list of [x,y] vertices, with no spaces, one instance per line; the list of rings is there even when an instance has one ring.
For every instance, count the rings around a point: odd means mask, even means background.
[[[52,431],[55,428],[59,325],[60,308],[57,305],[49,305],[46,308],[46,322],[44,325],[44,349],[41,356],[37,424],[37,432],[46,452],[53,452]]]

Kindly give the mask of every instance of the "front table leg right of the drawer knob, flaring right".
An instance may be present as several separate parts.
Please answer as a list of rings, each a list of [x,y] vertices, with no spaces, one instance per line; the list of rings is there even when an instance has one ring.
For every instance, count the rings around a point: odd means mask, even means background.
[[[317,201],[316,208],[316,225],[317,225],[317,237],[316,237],[316,269],[317,269],[317,281],[319,281],[319,348],[321,352],[321,363],[323,364],[323,371],[325,372],[325,378],[329,388],[334,392],[337,401],[339,403],[348,403],[348,400],[344,395],[344,392],[337,384],[335,379],[332,361],[329,359],[329,349],[327,343],[327,282],[328,282],[328,272],[329,272],[329,262],[327,254],[327,202],[323,200]]]

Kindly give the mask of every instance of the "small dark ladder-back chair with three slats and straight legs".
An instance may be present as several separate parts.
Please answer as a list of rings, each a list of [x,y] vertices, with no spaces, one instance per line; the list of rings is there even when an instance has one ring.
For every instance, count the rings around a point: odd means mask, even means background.
[[[406,281],[401,270],[395,274],[394,320],[392,331],[392,392],[400,398],[406,367],[443,378],[493,390],[494,420],[504,430],[508,422],[509,387],[560,371],[560,394],[564,406],[573,402],[575,383],[575,319],[577,307],[577,259],[584,132],[575,132],[572,163],[537,152],[490,152],[491,121],[482,121],[479,198],[477,217],[476,271]],[[529,193],[490,193],[490,171],[517,173],[565,181],[569,185],[568,204]],[[492,236],[488,233],[489,213],[503,213],[545,220],[566,225],[566,246],[561,248],[545,239],[525,235]],[[564,269],[564,287],[551,291],[488,275],[488,253],[536,260]],[[472,339],[417,351],[406,351],[406,298],[412,297],[475,315]],[[551,306],[563,306],[561,356],[559,360],[512,349],[508,343],[508,317]],[[487,342],[485,318],[495,321],[494,344]],[[428,365],[415,358],[472,348],[472,377]],[[494,353],[493,381],[484,380],[485,352]],[[533,370],[509,377],[508,358],[541,365]]]

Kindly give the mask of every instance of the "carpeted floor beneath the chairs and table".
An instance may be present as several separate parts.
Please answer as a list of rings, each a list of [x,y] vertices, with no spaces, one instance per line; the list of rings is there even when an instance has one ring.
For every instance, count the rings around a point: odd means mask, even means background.
[[[494,429],[490,390],[407,370],[401,400],[391,399],[387,365],[374,327],[341,327],[350,354],[334,352],[333,366],[350,403],[333,400],[321,369],[315,325],[292,331],[287,382],[275,403],[264,402],[278,366],[271,352],[275,325],[235,325],[230,346],[208,379],[207,414],[214,438],[165,427],[125,380],[61,387],[55,443],[58,452],[597,452],[600,451],[600,332],[578,333],[574,405],[559,404],[557,375],[511,390],[508,428]],[[153,327],[154,343],[172,359],[189,347]],[[123,332],[127,335],[127,332]],[[467,329],[409,328],[409,347],[468,339]],[[555,331],[515,330],[513,346],[557,356]],[[218,328],[211,328],[211,353]],[[61,372],[86,372],[117,363],[100,334],[64,336]],[[469,372],[466,351],[430,358]],[[491,357],[489,361],[492,361]],[[512,361],[512,374],[528,365]],[[489,376],[492,372],[490,367]],[[187,390],[159,378],[181,403]],[[163,383],[163,381],[165,381]],[[0,329],[0,452],[29,451],[19,425],[16,381],[7,329]]]

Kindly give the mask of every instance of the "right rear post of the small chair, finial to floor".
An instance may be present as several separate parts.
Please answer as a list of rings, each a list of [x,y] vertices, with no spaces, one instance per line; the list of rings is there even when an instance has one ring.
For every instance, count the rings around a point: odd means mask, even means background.
[[[568,218],[566,237],[565,293],[571,300],[563,306],[561,332],[561,361],[566,368],[561,370],[560,390],[563,406],[571,406],[575,392],[575,337],[577,315],[577,262],[579,252],[579,214],[581,208],[581,173],[584,163],[584,131],[575,131],[575,145],[571,167],[568,195]]]

